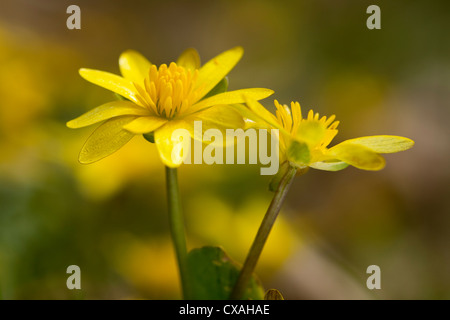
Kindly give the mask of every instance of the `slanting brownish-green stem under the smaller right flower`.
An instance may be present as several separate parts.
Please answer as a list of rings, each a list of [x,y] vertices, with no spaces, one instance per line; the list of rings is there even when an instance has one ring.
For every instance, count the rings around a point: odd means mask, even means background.
[[[286,194],[289,190],[289,187],[294,180],[295,174],[297,172],[296,168],[290,167],[286,174],[280,181],[278,185],[277,191],[270,203],[269,208],[267,209],[266,215],[264,216],[263,221],[259,227],[258,233],[256,234],[255,240],[253,240],[252,247],[245,259],[244,265],[241,269],[239,277],[234,285],[233,291],[231,292],[230,299],[237,300],[241,299],[247,285],[252,277],[253,271],[256,267],[256,263],[261,255],[261,252],[264,248],[264,244],[269,237],[270,230],[275,223],[275,220],[278,216],[278,213],[281,210]]]

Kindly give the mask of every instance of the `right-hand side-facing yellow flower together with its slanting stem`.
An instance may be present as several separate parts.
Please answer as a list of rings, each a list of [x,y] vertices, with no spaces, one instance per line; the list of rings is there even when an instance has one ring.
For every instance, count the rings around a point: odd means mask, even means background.
[[[271,189],[275,191],[274,197],[233,288],[232,299],[242,297],[289,187],[298,172],[304,172],[306,171],[304,169],[309,167],[338,171],[348,165],[364,170],[381,170],[385,160],[380,153],[403,151],[414,145],[408,138],[383,135],[350,139],[328,148],[338,132],[339,121],[335,121],[334,115],[329,118],[320,117],[318,113],[310,110],[308,116],[303,118],[298,102],[291,102],[289,108],[276,100],[276,115],[273,115],[254,99],[248,98],[246,102],[250,112],[246,108],[241,108],[241,105],[236,107],[251,120],[250,126],[279,130],[280,163],[283,163],[283,168],[272,180]]]

